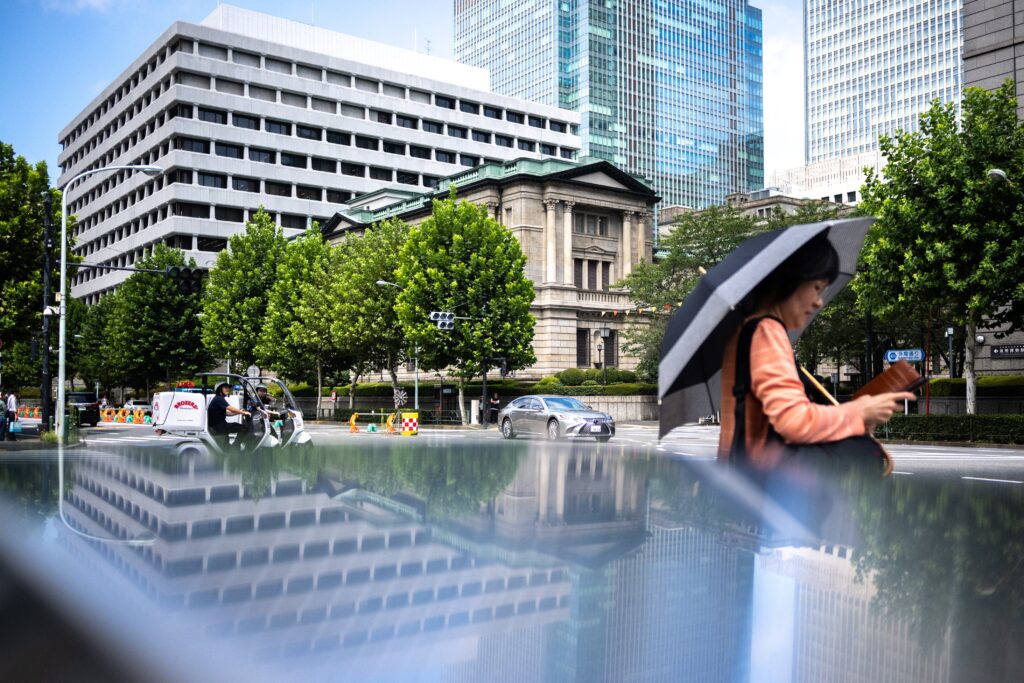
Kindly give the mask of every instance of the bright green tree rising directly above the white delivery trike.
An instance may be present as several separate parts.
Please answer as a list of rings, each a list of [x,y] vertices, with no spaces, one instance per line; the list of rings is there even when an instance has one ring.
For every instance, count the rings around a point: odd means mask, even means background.
[[[262,207],[217,255],[203,294],[203,341],[214,356],[246,368],[256,361],[284,232]]]

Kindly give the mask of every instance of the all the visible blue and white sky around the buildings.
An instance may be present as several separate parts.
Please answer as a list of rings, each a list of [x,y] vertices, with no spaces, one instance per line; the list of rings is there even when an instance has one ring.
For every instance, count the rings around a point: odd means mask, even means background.
[[[57,133],[175,20],[216,0],[0,0],[0,140],[56,180]],[[452,56],[453,0],[233,0],[230,4]],[[801,0],[753,0],[765,25],[765,171],[803,160]]]

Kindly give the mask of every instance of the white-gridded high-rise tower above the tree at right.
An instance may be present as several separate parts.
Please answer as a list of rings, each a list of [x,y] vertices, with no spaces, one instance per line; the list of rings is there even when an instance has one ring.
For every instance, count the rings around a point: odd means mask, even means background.
[[[931,100],[958,102],[961,0],[807,0],[805,161],[878,148],[918,130]]]

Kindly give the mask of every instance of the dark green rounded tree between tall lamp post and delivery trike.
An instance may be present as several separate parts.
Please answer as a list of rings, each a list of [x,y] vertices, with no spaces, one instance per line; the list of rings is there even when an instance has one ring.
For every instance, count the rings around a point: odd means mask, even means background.
[[[164,270],[185,263],[177,249],[157,245],[137,268]],[[106,343],[110,362],[122,380],[135,388],[173,377],[190,377],[213,365],[200,331],[200,298],[181,294],[163,274],[136,272],[114,294],[110,304]]]

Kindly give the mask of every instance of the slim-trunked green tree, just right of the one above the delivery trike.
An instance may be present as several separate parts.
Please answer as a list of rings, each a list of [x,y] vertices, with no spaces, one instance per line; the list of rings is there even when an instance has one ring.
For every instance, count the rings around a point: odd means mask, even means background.
[[[316,378],[316,415],[321,413],[324,376],[350,364],[335,333],[337,301],[332,281],[339,252],[324,242],[313,225],[289,242],[278,262],[270,303],[257,358],[291,379]]]

